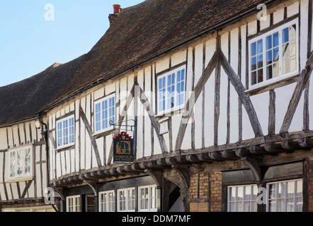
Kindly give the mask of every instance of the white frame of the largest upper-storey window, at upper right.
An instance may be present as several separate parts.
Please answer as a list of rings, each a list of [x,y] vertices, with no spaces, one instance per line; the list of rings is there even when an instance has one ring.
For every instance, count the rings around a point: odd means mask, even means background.
[[[282,53],[282,48],[283,48],[283,30],[285,28],[288,28],[290,25],[293,25],[295,24],[296,25],[296,69],[295,71],[290,71],[289,73],[285,73],[283,74],[283,53]],[[299,21],[298,19],[295,19],[295,20],[291,20],[290,22],[288,23],[285,23],[284,25],[281,25],[279,28],[275,28],[269,32],[266,32],[264,33],[263,35],[260,35],[258,37],[255,37],[251,40],[249,40],[249,56],[247,56],[249,58],[249,90],[254,90],[255,88],[260,88],[262,87],[263,85],[268,85],[268,84],[271,84],[271,83],[275,83],[276,81],[280,81],[281,79],[285,79],[285,78],[289,78],[289,77],[292,77],[292,76],[295,76],[297,74],[299,74],[299,61],[300,61],[300,57],[299,57]],[[279,76],[277,77],[273,77],[273,78],[270,78],[268,80],[266,80],[266,52],[267,52],[267,49],[266,49],[266,37],[268,37],[269,35],[273,35],[275,32],[278,32],[278,35],[279,35],[279,43],[278,43],[278,47],[279,47]],[[258,40],[262,40],[263,42],[263,81],[260,82],[260,83],[256,83],[254,85],[252,85],[252,78],[251,78],[251,44],[254,43],[254,42],[258,42]],[[258,55],[256,53],[256,55]],[[256,64],[258,64],[258,61],[256,61]],[[258,79],[258,78],[256,78]]]

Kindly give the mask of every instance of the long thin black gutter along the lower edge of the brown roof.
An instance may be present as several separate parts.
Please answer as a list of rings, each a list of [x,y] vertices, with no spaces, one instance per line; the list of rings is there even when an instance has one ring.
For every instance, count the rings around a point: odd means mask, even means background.
[[[266,4],[266,6],[268,6],[270,4],[273,4],[275,1],[279,1],[279,0],[268,0],[268,1],[263,2],[263,4]],[[193,37],[190,37],[187,40],[179,42],[178,44],[174,44],[172,47],[169,47],[168,49],[166,49],[166,50],[164,50],[162,52],[159,52],[158,54],[154,54],[152,57],[149,57],[149,58],[147,58],[147,59],[145,59],[143,61],[140,61],[137,64],[134,64],[133,66],[129,66],[126,69],[123,69],[122,71],[120,71],[118,73],[115,73],[115,74],[113,74],[112,76],[109,76],[106,79],[103,79],[102,81],[95,82],[92,85],[89,85],[86,88],[83,88],[83,89],[77,91],[76,93],[73,93],[73,94],[65,97],[64,99],[55,102],[54,104],[50,105],[49,107],[45,107],[44,109],[40,110],[40,112],[47,112],[48,110],[52,109],[53,107],[56,107],[57,105],[60,105],[62,102],[65,102],[65,101],[71,99],[72,97],[74,97],[76,95],[84,93],[86,90],[89,90],[90,88],[93,88],[96,85],[100,85],[100,84],[106,83],[107,81],[109,81],[109,80],[111,80],[111,79],[113,79],[115,77],[118,77],[118,76],[120,76],[121,74],[123,74],[123,73],[125,73],[127,71],[135,69],[138,66],[147,63],[148,61],[152,61],[152,59],[156,59],[156,58],[160,57],[161,55],[166,54],[167,52],[171,52],[174,49],[177,49],[178,47],[181,47],[183,44],[191,42],[191,41],[193,41],[193,40],[195,40],[198,37],[201,37],[203,35],[207,35],[207,33],[214,32],[215,30],[219,30],[219,29],[223,28],[224,26],[228,25],[229,23],[234,23],[237,20],[240,20],[241,18],[244,18],[244,17],[249,16],[249,15],[251,15],[253,13],[256,13],[256,12],[258,12],[258,9],[256,7],[255,8],[251,8],[251,9],[249,9],[248,11],[246,11],[244,13],[240,13],[239,15],[234,16],[233,18],[230,18],[228,20],[224,20],[223,22],[221,22],[221,23],[219,23],[217,25],[213,25],[212,28],[209,28],[209,29],[203,31],[203,32],[201,32],[198,35],[194,35]],[[36,114],[39,114],[40,112],[36,112]]]

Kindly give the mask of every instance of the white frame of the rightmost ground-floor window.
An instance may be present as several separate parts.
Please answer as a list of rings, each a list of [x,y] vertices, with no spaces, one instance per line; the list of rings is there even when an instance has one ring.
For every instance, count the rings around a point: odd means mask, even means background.
[[[279,192],[279,189],[275,189],[275,197],[274,198],[270,198],[270,185],[271,184],[287,184],[288,182],[293,182],[294,185],[295,185],[295,188],[294,188],[294,196],[290,196],[290,197],[287,197],[286,194],[287,194],[287,191],[288,191],[288,186],[285,186],[284,187],[284,191],[283,191],[283,197],[278,197],[278,192]],[[301,187],[302,187],[302,196],[295,196],[295,192],[297,191],[297,182],[300,182],[301,184]],[[286,181],[280,181],[280,182],[271,182],[271,183],[268,183],[266,184],[266,191],[267,191],[267,194],[266,194],[266,212],[269,212],[270,211],[270,202],[271,201],[275,201],[276,203],[276,206],[275,206],[275,212],[278,211],[278,205],[277,205],[277,201],[283,201],[284,203],[284,210],[281,210],[282,212],[287,212],[287,199],[293,199],[293,212],[295,212],[295,205],[296,205],[296,200],[297,198],[300,198],[302,199],[302,208],[303,208],[303,179],[291,179],[291,180],[286,180]],[[302,210],[301,210],[302,211]]]

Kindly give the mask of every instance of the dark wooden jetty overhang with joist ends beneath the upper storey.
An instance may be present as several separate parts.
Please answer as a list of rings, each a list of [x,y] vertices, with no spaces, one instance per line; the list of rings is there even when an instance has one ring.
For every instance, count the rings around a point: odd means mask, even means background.
[[[238,143],[227,145],[215,145],[209,148],[192,150],[179,150],[162,155],[142,157],[132,164],[113,164],[106,167],[97,167],[86,172],[68,174],[50,182],[55,187],[74,186],[86,184],[85,181],[94,183],[101,179],[125,175],[153,174],[163,169],[187,169],[192,164],[210,164],[212,162],[237,161],[245,162],[252,167],[257,179],[258,165],[266,155],[278,155],[279,153],[292,153],[294,150],[311,150],[313,148],[313,131],[300,131],[253,138]],[[182,168],[183,167],[183,168]],[[154,177],[159,178],[159,174]],[[188,182],[188,180],[186,181]]]

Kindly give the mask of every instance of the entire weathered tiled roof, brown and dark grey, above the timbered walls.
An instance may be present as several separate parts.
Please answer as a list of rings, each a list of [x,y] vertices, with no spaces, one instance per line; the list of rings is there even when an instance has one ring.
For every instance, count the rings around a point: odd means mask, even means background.
[[[0,88],[0,124],[35,112],[234,18],[264,0],[147,0],[124,8],[105,35],[79,59]]]

